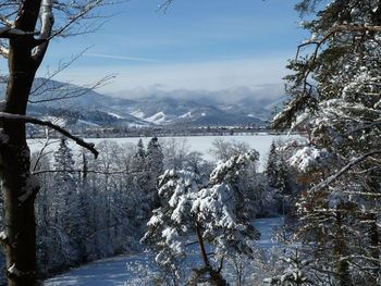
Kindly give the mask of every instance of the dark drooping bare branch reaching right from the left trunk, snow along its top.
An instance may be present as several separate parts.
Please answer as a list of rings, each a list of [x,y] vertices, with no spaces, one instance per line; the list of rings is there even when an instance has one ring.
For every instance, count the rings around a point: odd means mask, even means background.
[[[95,158],[98,157],[98,151],[95,149],[94,144],[84,141],[82,138],[72,135],[67,130],[61,128],[58,125],[54,125],[50,121],[41,121],[41,120],[34,119],[34,117],[30,117],[30,116],[21,115],[21,114],[11,114],[11,113],[7,113],[7,112],[0,112],[0,120],[25,122],[25,123],[36,124],[36,125],[40,125],[40,126],[48,126],[48,127],[57,130],[58,133],[61,133],[62,135],[66,136],[67,138],[72,139],[77,145],[79,145],[79,146],[86,148],[87,150],[89,150],[94,154]]]

